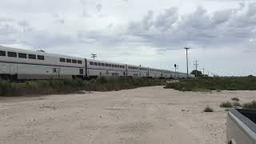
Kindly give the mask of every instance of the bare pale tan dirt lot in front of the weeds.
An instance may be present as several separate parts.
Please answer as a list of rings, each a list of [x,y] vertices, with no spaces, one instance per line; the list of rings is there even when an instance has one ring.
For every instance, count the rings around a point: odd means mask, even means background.
[[[162,86],[134,90],[0,98],[0,143],[223,144],[232,97],[256,91],[179,92]],[[207,106],[214,113],[203,113]]]

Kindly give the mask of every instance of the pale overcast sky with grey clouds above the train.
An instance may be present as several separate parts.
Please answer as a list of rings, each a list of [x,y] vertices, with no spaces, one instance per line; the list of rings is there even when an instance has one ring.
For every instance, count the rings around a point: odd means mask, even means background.
[[[186,72],[256,75],[256,2],[0,0],[0,45]]]

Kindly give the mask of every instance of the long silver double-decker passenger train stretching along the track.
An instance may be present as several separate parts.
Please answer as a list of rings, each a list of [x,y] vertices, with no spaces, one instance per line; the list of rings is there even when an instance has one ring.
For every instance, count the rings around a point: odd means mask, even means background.
[[[0,46],[1,79],[97,78],[101,76],[186,78],[186,73]]]

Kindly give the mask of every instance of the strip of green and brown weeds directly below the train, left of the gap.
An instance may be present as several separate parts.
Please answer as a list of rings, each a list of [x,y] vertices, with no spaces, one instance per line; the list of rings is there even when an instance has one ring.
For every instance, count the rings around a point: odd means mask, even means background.
[[[0,81],[0,96],[26,94],[69,94],[78,90],[110,91],[133,89],[142,86],[162,86],[165,80],[148,78],[105,78],[90,80],[36,80],[27,82]]]

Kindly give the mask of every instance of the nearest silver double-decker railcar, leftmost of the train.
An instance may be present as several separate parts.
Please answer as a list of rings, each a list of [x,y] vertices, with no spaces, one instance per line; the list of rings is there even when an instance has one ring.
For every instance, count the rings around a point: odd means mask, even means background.
[[[83,78],[84,74],[83,58],[0,46],[1,78]]]

